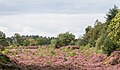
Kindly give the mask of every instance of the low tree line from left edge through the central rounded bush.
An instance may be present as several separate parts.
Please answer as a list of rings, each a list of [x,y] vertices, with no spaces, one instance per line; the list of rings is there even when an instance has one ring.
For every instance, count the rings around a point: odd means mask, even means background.
[[[43,37],[39,35],[20,35],[15,33],[12,37],[6,37],[5,33],[0,31],[1,46],[45,46],[52,45],[55,48],[61,46],[75,45],[75,35],[70,32],[60,33],[57,37]]]

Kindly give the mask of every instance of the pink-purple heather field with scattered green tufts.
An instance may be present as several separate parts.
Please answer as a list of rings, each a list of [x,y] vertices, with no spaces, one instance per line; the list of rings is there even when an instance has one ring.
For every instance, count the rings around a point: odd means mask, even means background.
[[[72,47],[12,48],[3,53],[14,60],[16,68],[21,70],[120,70],[120,64],[110,64],[101,50]]]

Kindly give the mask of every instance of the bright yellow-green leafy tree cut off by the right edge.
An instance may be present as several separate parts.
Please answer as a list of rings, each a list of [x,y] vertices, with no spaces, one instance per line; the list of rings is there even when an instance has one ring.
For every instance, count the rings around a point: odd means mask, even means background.
[[[107,32],[109,32],[107,36],[120,48],[120,11],[115,18],[111,20]]]

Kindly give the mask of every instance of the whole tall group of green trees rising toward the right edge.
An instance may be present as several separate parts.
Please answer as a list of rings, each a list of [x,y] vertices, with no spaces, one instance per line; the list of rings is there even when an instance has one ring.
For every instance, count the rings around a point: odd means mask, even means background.
[[[120,11],[114,5],[106,14],[106,22],[101,23],[96,20],[94,27],[88,26],[83,37],[77,40],[80,46],[95,46],[96,50],[102,50],[106,54],[111,54],[120,48]]]

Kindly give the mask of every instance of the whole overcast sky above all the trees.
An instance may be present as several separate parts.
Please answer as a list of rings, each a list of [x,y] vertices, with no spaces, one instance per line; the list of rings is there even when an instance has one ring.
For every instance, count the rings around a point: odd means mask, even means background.
[[[57,36],[72,32],[82,36],[88,25],[105,14],[119,0],[0,0],[0,31],[7,36]]]

